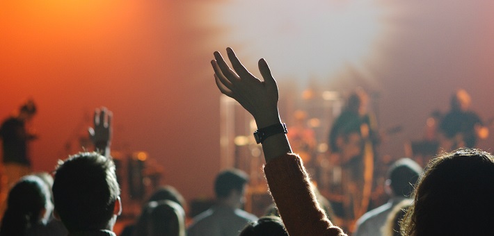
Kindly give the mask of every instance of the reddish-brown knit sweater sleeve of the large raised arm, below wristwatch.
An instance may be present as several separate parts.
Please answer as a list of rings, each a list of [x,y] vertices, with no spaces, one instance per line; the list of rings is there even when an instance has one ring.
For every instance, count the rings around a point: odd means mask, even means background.
[[[345,235],[319,207],[298,155],[287,153],[271,160],[264,166],[264,174],[290,236]]]

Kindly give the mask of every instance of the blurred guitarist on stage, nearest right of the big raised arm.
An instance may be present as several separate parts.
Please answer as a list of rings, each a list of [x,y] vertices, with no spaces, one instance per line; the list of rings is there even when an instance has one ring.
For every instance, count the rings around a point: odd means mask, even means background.
[[[367,112],[368,96],[353,92],[329,134],[329,146],[342,167],[344,220],[349,228],[367,211],[374,174],[374,147],[381,138],[374,115]]]

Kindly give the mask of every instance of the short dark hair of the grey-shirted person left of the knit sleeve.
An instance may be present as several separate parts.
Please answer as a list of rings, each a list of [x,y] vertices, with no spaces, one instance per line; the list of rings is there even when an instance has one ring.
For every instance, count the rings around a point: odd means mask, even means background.
[[[227,169],[221,171],[214,181],[214,192],[216,197],[225,198],[230,196],[232,190],[241,192],[248,182],[248,176],[239,169]]]

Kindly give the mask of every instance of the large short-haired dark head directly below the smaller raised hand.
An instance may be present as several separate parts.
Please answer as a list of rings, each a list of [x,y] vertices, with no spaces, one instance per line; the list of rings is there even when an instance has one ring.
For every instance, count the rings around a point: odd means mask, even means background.
[[[83,152],[59,161],[53,195],[55,210],[70,232],[106,228],[120,195],[113,160]]]

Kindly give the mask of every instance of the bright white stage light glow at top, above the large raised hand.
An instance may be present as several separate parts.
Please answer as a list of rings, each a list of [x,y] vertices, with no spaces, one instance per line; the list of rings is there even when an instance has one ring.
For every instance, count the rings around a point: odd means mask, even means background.
[[[365,60],[383,36],[384,7],[377,0],[231,0],[217,3],[218,40],[233,47],[246,66],[266,58],[277,77],[328,79]],[[253,69],[252,69],[253,70]]]

